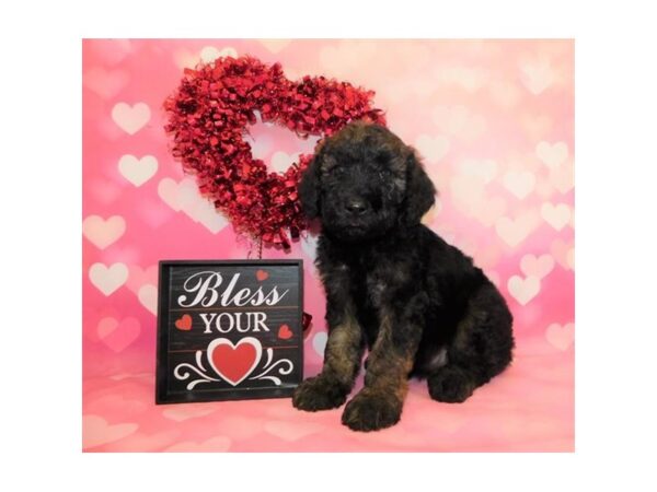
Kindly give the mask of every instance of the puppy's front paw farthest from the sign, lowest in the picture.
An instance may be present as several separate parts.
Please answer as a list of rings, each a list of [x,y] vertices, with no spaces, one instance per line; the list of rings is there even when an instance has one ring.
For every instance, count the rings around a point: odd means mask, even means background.
[[[390,427],[401,415],[401,401],[366,388],[347,403],[342,422],[353,431],[368,432]]]

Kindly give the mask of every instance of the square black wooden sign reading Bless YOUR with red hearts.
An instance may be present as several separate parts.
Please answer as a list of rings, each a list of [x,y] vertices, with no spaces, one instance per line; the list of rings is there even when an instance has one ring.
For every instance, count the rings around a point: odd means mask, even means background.
[[[160,261],[157,403],[291,396],[301,260]]]

